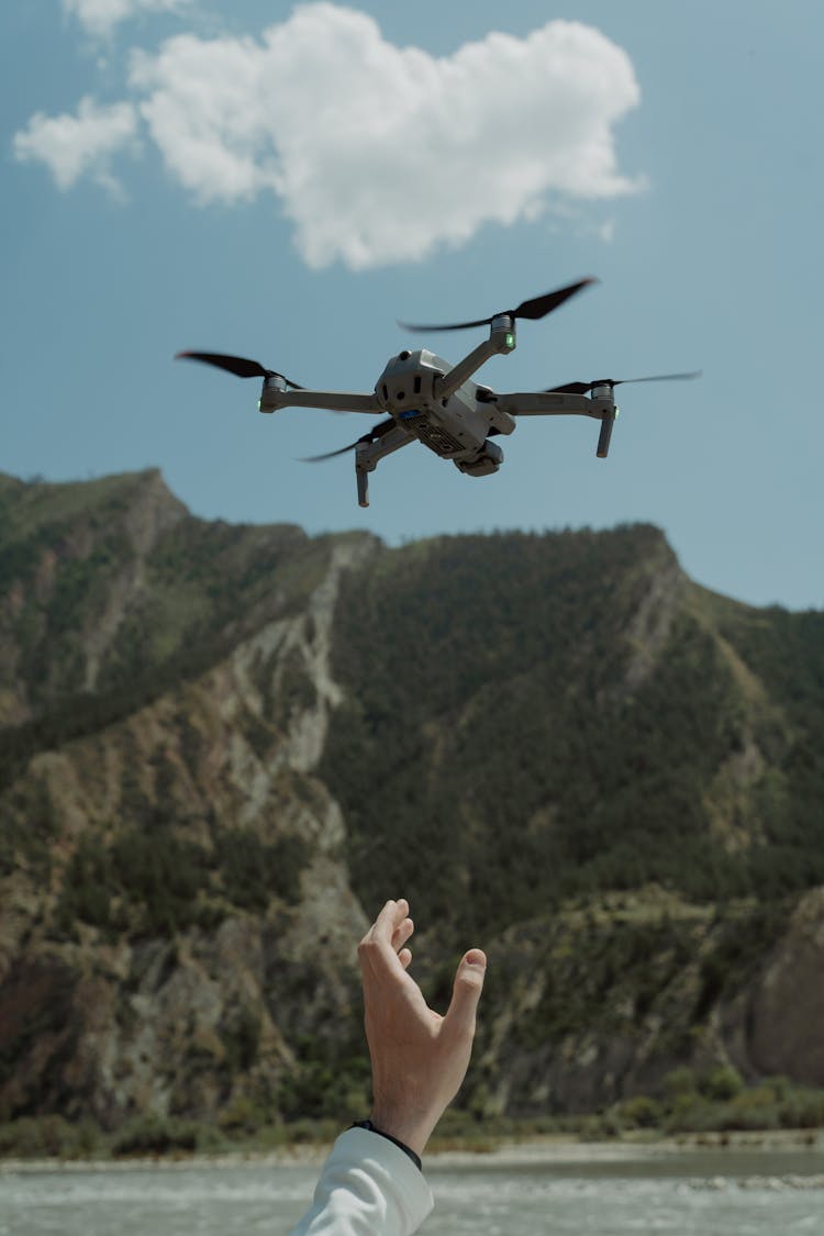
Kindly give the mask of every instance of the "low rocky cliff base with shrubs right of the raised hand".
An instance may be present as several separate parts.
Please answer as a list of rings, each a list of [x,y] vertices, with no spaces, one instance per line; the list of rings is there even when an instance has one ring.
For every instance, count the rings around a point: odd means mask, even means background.
[[[489,957],[486,1110],[589,1112],[661,1095],[684,1065],[822,1085],[822,889],[794,910],[721,915],[635,890],[513,927]]]

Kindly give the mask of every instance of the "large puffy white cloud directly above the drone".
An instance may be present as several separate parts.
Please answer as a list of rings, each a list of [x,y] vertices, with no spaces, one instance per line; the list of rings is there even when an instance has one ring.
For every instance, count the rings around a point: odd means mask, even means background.
[[[173,179],[203,204],[274,194],[313,267],[420,260],[484,224],[639,187],[614,145],[640,99],[631,62],[579,22],[439,58],[363,12],[306,4],[259,40],[135,51],[128,89]]]

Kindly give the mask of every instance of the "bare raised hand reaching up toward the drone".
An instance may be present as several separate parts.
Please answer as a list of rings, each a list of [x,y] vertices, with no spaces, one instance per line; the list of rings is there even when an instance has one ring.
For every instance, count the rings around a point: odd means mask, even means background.
[[[406,942],[414,929],[408,902],[387,901],[358,946],[358,960],[372,1059],[372,1121],[423,1154],[469,1064],[487,958],[478,948],[465,953],[441,1017],[406,973]]]

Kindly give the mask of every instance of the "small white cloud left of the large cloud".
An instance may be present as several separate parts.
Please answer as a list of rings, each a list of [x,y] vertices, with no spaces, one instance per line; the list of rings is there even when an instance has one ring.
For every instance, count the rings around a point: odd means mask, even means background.
[[[33,115],[15,135],[15,154],[46,163],[61,189],[90,174],[109,190],[119,192],[109,159],[133,142],[136,133],[137,112],[131,103],[99,108],[94,99],[85,98],[75,116],[46,116],[42,111]]]

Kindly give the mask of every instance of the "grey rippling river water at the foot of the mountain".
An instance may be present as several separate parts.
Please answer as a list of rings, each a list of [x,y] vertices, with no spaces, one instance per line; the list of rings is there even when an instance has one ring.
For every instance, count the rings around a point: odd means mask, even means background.
[[[316,1178],[314,1164],[0,1167],[0,1236],[282,1236]],[[824,1236],[820,1148],[447,1156],[427,1178],[425,1236]]]

